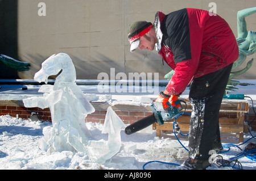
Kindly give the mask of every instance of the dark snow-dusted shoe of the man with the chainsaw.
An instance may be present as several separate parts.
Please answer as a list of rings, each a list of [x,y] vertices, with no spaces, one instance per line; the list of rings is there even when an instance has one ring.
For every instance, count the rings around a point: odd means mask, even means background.
[[[188,158],[180,167],[180,170],[205,170],[210,166],[208,160],[195,159],[192,163],[191,158]]]

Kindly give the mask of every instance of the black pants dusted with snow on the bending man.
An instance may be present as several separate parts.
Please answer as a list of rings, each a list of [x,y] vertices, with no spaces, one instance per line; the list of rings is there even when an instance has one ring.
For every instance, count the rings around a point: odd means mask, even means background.
[[[195,78],[191,83],[189,101],[192,115],[188,146],[192,159],[208,159],[214,140],[221,142],[218,115],[232,65]]]

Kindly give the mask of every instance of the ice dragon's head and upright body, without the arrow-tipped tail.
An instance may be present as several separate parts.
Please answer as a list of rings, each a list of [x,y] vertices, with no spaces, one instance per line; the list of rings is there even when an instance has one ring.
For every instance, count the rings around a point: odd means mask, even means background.
[[[60,73],[61,71],[61,73]],[[76,85],[76,70],[68,54],[53,54],[35,74],[35,81],[48,82],[50,75],[60,73],[54,85],[42,85],[41,97],[23,99],[25,107],[49,107],[52,127],[43,129],[44,138],[39,148],[46,151],[85,151],[90,132],[85,117],[94,107]]]

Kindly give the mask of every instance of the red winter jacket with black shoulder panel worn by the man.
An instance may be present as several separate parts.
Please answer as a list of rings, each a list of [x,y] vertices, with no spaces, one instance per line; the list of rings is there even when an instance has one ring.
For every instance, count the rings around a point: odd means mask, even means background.
[[[181,94],[192,78],[224,68],[237,60],[239,50],[228,23],[208,11],[182,9],[156,13],[158,53],[175,70],[167,91]]]

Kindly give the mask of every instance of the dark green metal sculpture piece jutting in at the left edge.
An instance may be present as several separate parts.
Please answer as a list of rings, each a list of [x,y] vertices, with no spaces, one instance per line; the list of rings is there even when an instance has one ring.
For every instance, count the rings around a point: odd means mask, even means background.
[[[11,58],[4,54],[0,54],[0,62],[2,62],[3,65],[14,68],[18,71],[30,70],[30,63],[15,60],[14,58]]]

